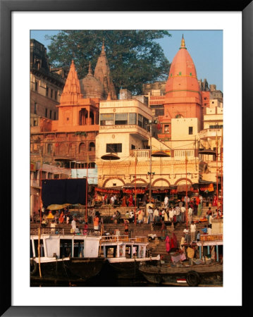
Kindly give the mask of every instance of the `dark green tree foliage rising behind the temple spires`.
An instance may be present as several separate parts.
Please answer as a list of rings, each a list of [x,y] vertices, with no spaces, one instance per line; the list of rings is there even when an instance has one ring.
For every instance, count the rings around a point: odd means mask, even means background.
[[[170,36],[166,30],[62,30],[47,38],[52,65],[67,67],[73,59],[79,78],[89,62],[94,70],[104,40],[116,92],[141,94],[144,83],[167,79],[170,64],[156,39]]]

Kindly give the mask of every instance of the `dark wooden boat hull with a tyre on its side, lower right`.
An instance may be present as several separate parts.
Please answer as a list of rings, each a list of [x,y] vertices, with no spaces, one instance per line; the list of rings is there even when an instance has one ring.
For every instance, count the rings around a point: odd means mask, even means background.
[[[140,273],[144,278],[156,285],[171,286],[223,286],[223,266],[195,265],[195,266],[140,266]]]

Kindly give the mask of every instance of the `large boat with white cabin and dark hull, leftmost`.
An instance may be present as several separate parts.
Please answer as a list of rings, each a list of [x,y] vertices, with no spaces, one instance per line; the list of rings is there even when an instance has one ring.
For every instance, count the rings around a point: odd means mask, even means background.
[[[42,235],[30,235],[31,280],[85,282],[101,271],[106,261],[99,256],[101,237],[55,234],[46,229]]]

